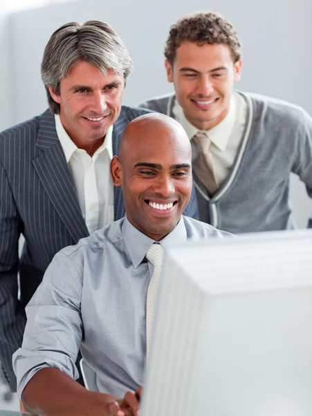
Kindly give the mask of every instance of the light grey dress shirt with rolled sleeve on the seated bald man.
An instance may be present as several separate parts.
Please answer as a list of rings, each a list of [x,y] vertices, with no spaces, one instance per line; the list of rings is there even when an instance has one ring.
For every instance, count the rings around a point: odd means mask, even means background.
[[[224,232],[182,217],[163,248]],[[19,397],[31,377],[56,367],[77,378],[80,348],[98,390],[123,397],[144,382],[146,299],[154,240],[122,218],[57,253],[26,306],[23,345],[13,356]]]

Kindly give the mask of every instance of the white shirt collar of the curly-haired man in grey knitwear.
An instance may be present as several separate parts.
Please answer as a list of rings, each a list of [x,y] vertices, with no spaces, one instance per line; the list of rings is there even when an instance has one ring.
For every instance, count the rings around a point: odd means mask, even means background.
[[[194,125],[192,125],[190,121],[188,121],[185,117],[182,107],[179,105],[177,100],[174,103],[174,108],[172,111],[176,121],[182,125],[190,140],[192,137],[194,137],[194,135],[196,135],[197,132],[201,131],[209,135],[212,143],[217,146],[221,152],[223,152],[223,150],[226,149],[226,146],[228,146],[228,141],[236,121],[236,103],[233,95],[230,99],[230,109],[228,110],[228,114],[226,114],[220,123],[215,125],[213,128],[210,128],[210,130],[199,130]]]

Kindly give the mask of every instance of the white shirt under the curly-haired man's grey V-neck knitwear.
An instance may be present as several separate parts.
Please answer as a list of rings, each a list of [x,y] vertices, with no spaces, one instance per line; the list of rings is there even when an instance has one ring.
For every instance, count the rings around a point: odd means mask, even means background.
[[[226,114],[226,117],[219,124],[210,128],[210,130],[199,130],[192,125],[186,119],[182,107],[178,104],[177,100],[174,103],[172,111],[174,118],[183,126],[190,140],[199,131],[205,132],[210,137],[212,142],[210,150],[212,153],[214,173],[221,186],[230,173],[241,138],[243,137],[247,114],[247,104],[244,97],[237,92],[233,92],[228,114]],[[193,160],[196,159],[197,151],[196,144],[192,143]]]

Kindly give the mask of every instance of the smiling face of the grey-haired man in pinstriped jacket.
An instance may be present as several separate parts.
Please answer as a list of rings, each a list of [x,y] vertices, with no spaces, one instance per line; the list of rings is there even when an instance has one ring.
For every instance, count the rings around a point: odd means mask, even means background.
[[[59,103],[62,125],[77,147],[88,151],[102,144],[120,114],[124,88],[121,74],[107,69],[103,75],[89,62],[78,62],[68,71],[59,94],[49,87],[53,100]]]

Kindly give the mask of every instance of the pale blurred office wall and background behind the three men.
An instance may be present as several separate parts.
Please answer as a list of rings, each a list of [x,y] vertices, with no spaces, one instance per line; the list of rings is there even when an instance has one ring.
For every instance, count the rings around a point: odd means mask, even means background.
[[[232,21],[241,37],[244,65],[237,89],[291,101],[312,114],[312,1],[307,0],[2,0],[0,4],[0,130],[47,107],[40,79],[44,46],[68,21],[107,21],[134,62],[124,103],[172,91],[165,78],[163,46],[174,21],[187,12],[212,10]],[[306,226],[312,203],[291,178],[297,225]],[[0,381],[0,408],[8,402]]]

